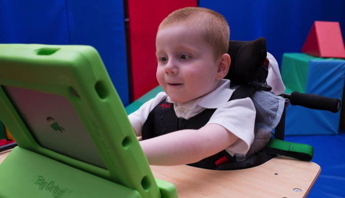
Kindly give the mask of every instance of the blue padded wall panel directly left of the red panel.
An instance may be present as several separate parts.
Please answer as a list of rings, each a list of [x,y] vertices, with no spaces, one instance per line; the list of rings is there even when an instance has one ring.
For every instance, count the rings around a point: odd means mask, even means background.
[[[66,0],[72,45],[97,49],[124,105],[129,103],[122,0]]]

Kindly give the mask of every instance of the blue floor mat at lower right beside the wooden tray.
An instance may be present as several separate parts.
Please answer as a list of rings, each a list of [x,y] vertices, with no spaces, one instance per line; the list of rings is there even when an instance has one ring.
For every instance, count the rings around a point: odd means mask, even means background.
[[[308,198],[345,198],[345,131],[339,135],[288,136],[285,141],[314,147],[313,162],[321,167]]]

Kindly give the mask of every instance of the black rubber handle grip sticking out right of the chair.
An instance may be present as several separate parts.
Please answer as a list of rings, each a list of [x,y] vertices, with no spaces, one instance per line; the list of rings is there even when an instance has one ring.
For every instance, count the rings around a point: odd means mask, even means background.
[[[316,110],[326,110],[333,113],[339,112],[340,100],[338,98],[328,98],[321,95],[299,93],[294,91],[290,95],[290,104],[299,105]]]

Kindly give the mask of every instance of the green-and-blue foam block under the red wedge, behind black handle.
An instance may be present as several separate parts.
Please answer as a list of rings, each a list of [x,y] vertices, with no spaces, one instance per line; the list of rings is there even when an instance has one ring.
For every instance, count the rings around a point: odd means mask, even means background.
[[[282,80],[287,93],[298,91],[341,99],[345,60],[287,53],[282,59]],[[286,112],[286,135],[338,134],[340,112],[316,111],[300,106],[289,106]]]

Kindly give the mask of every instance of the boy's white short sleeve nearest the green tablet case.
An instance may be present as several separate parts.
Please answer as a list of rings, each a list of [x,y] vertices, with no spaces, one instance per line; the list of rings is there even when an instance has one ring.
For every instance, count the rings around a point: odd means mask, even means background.
[[[155,98],[144,103],[137,111],[130,113],[128,119],[132,124],[135,133],[137,136],[141,136],[141,130],[143,125],[149,116],[149,113],[157,106],[157,104],[166,98],[167,95],[165,92],[159,92]]]

